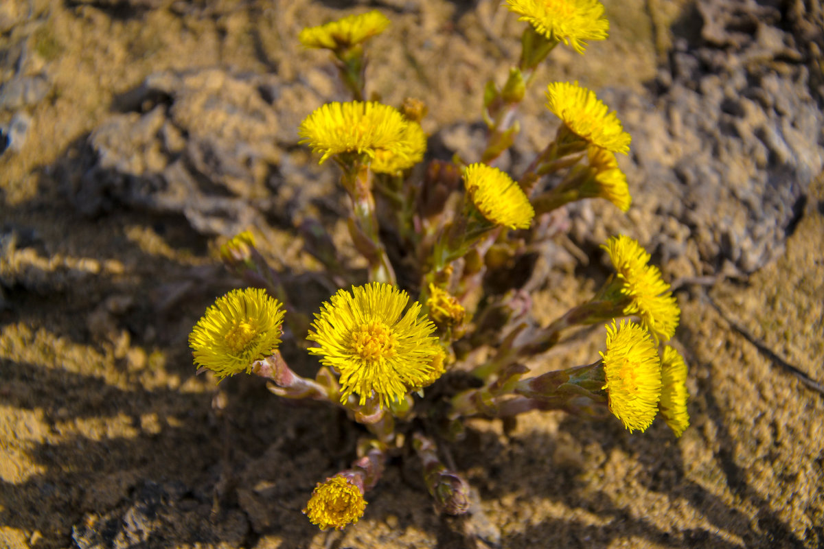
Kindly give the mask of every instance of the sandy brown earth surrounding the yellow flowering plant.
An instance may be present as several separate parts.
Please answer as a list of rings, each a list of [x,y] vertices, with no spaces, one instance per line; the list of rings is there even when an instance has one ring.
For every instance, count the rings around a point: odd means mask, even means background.
[[[689,21],[694,8],[687,0],[606,5],[611,39],[583,57],[556,49],[537,81],[644,91],[671,51],[673,21]],[[487,0],[377,7],[393,27],[370,44],[370,90],[390,104],[424,98],[424,128],[442,130],[447,149],[473,151],[471,132],[456,123],[479,119],[482,87],[506,74],[521,24]],[[279,401],[257,379],[216,388],[194,375],[190,329],[238,284],[214,253],[215,233],[231,232],[232,223],[206,216],[198,225],[182,207],[122,197],[86,211],[74,191],[86,181],[87,142],[109,135],[100,128],[155,107],[146,96],[130,114],[118,107],[150,75],[194,75],[176,82],[191,91],[178,97],[195,99],[217,78],[216,90],[246,106],[254,100],[236,94],[254,86],[227,73],[276,78],[273,105],[250,108],[269,109],[259,141],[278,147],[255,156],[264,167],[246,187],[242,178],[226,185],[241,189],[241,202],[270,201],[243,219],[256,224],[261,248],[311,309],[325,289],[311,282],[317,264],[301,252],[294,227],[317,212],[329,221],[345,202],[332,176],[317,175],[332,168],[317,168],[293,146],[295,126],[345,95],[325,55],[298,48],[296,35],[363,9],[316,0],[2,3],[0,82],[30,79],[21,99],[7,95],[0,109],[2,124],[18,113],[29,118],[25,142],[0,156],[0,547],[824,547],[824,397],[803,381],[824,380],[821,175],[784,252],[751,275],[722,276],[689,244],[683,257],[662,262],[665,277],[678,279],[674,345],[690,365],[691,427],[681,439],[661,421],[630,435],[618,421],[561,412],[531,412],[506,432],[499,421],[473,420],[466,440],[449,449],[477,490],[468,518],[435,514],[419,470],[398,459],[357,525],[323,533],[308,523],[301,509],[311,489],[347,466],[358,426],[322,407]],[[531,90],[523,105],[528,144],[545,131],[530,122],[541,102]],[[186,111],[181,103],[176,120],[190,117],[181,139],[197,131],[231,138],[222,134],[227,119],[199,119],[202,105]],[[147,143],[129,173],[149,181],[165,161]],[[287,184],[261,183],[270,165],[290,174]],[[660,220],[639,202],[629,221],[593,206],[593,234],[605,222],[647,234],[644,226]],[[563,243],[569,258],[581,254],[576,242]],[[559,262],[533,300],[547,320],[594,286]],[[536,367],[590,361],[601,338],[574,338]],[[308,359],[298,366],[312,367]]]

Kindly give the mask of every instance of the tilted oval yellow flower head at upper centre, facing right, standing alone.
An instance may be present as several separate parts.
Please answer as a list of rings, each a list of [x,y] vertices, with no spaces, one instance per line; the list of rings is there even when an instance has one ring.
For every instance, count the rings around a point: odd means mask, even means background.
[[[527,229],[535,210],[529,198],[508,174],[485,164],[472,164],[464,170],[466,193],[478,211],[495,225]]]

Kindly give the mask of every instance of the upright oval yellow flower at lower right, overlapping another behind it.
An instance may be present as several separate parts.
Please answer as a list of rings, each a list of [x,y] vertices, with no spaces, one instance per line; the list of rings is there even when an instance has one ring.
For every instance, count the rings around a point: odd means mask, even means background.
[[[610,411],[630,430],[653,422],[661,396],[661,361],[644,328],[622,320],[606,325],[606,352],[600,353]]]

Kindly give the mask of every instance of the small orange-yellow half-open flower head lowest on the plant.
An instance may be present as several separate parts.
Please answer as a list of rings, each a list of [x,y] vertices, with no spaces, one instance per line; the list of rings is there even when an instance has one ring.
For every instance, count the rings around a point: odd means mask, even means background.
[[[321,530],[343,530],[350,523],[358,523],[366,508],[363,491],[342,475],[318,482],[303,514]]]

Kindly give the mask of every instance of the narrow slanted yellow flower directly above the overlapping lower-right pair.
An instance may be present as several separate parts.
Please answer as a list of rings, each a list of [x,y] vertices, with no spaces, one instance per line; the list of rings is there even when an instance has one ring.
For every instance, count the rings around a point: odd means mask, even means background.
[[[656,339],[667,341],[675,335],[681,309],[661,271],[648,265],[649,254],[629,236],[613,236],[602,245],[610,254],[622,283],[621,294],[628,300],[624,314],[637,315]]]

